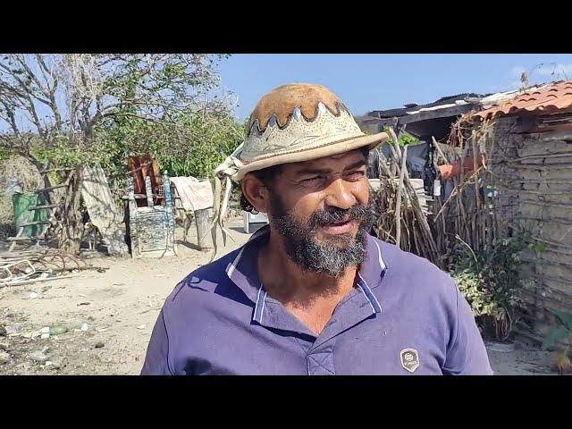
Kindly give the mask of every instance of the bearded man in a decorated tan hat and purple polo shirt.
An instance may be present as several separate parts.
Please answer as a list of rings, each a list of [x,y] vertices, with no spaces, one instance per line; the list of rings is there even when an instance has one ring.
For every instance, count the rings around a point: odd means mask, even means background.
[[[141,374],[492,374],[455,282],[366,233],[384,139],[324,87],[263,97],[217,176],[269,225],[173,290]]]

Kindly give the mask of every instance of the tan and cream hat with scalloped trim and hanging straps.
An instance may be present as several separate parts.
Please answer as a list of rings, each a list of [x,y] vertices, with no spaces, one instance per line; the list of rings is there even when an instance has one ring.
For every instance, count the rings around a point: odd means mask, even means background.
[[[260,99],[250,115],[247,138],[215,170],[214,253],[217,224],[226,242],[223,217],[231,181],[241,181],[248,172],[273,165],[338,155],[359,147],[371,150],[386,139],[384,132],[362,132],[348,107],[328,88],[291,83],[273,89]],[[223,198],[222,181],[226,185]]]

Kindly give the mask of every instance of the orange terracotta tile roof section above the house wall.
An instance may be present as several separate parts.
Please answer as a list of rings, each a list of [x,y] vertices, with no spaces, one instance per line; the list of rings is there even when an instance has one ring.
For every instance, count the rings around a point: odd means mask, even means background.
[[[497,102],[491,105],[487,105],[488,100],[483,99],[481,102],[484,110],[475,116],[490,119],[501,114],[552,113],[568,109],[572,107],[572,80],[560,80],[541,87],[528,88],[526,92],[517,92],[515,96],[505,101],[495,100]]]

